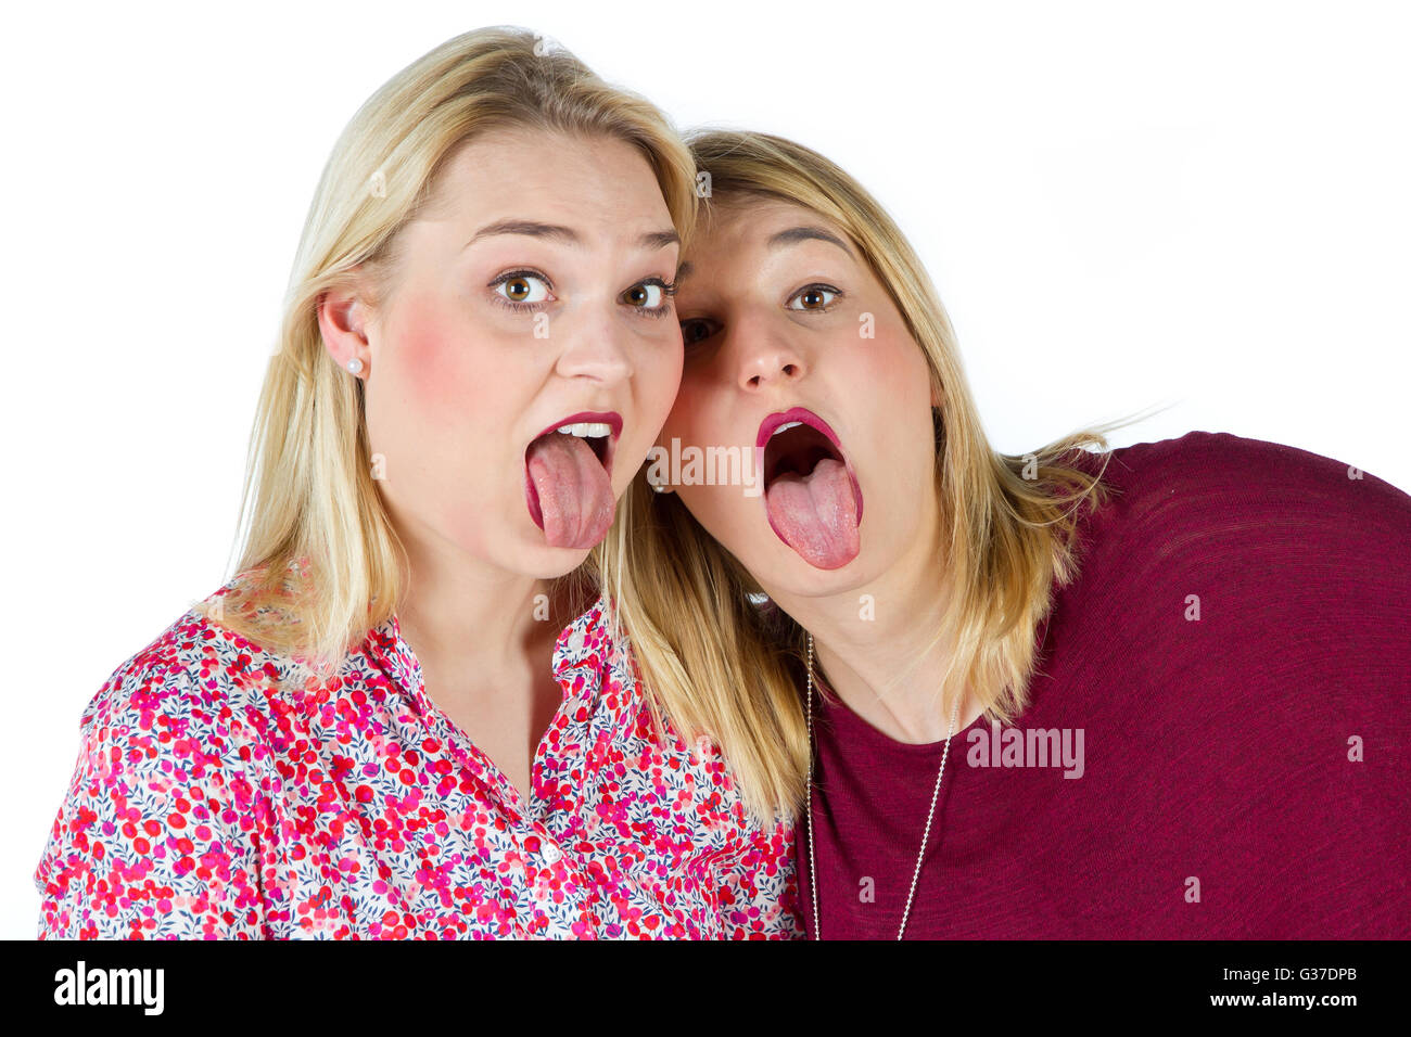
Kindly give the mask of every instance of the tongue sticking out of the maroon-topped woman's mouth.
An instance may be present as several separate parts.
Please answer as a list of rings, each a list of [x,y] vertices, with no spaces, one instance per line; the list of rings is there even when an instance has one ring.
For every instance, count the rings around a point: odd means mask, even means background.
[[[769,525],[814,569],[858,556],[858,505],[842,461],[821,459],[807,475],[786,471],[765,490]]]

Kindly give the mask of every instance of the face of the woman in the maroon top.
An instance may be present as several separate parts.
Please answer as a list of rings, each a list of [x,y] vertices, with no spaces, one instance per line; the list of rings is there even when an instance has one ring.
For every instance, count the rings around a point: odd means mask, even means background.
[[[684,260],[686,365],[658,442],[738,446],[763,492],[683,464],[682,502],[770,595],[869,583],[937,528],[920,347],[847,236],[801,206],[717,202]]]

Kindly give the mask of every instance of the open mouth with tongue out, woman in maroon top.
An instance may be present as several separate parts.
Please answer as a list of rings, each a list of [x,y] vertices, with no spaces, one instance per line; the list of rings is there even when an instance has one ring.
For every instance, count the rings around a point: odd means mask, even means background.
[[[759,425],[765,508],[780,540],[816,569],[840,569],[858,556],[862,487],[837,433],[796,406]]]

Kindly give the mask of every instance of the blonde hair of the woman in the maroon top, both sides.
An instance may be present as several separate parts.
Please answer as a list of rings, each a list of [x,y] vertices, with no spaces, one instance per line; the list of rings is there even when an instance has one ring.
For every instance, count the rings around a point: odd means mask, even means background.
[[[1078,507],[1084,499],[1101,504],[1108,490],[1102,473],[1065,459],[1106,450],[1102,430],[1123,422],[1027,456],[996,453],[967,387],[945,309],[882,206],[827,158],[779,137],[715,130],[689,142],[708,174],[713,200],[782,199],[844,230],[926,356],[943,394],[933,412],[935,484],[950,533],[940,562],[955,586],[935,632],[955,645],[940,698],[950,703],[968,684],[992,717],[1012,721],[1026,707],[1051,584],[1067,584],[1077,573]],[[701,219],[708,216],[707,203]],[[655,708],[687,736],[715,738],[756,817],[793,817],[809,770],[799,687],[806,632],[779,610],[756,604],[759,584],[676,494],[653,492],[643,477],[624,499],[617,525],[597,549],[598,567]]]

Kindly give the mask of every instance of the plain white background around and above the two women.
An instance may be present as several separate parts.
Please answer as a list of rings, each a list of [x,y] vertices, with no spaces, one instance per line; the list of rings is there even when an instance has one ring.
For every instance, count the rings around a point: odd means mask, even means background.
[[[531,20],[532,21],[528,21]],[[683,128],[794,137],[937,282],[993,443],[1173,405],[1411,490],[1411,6],[27,4],[0,42],[0,937],[103,680],[229,576],[289,265],[339,131],[518,21]]]

